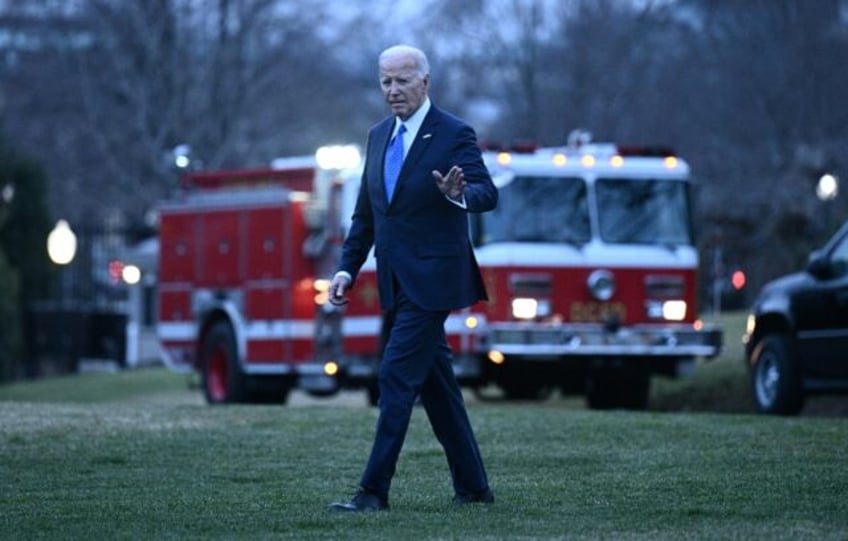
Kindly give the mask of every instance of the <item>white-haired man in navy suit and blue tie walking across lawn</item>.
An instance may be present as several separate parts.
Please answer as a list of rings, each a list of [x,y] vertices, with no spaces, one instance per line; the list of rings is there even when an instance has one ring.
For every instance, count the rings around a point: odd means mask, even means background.
[[[380,416],[360,488],[331,509],[388,509],[416,397],[444,448],[458,504],[494,501],[451,366],[444,323],[451,310],[486,300],[468,237],[468,213],[495,208],[498,192],[474,130],[430,103],[430,68],[416,48],[379,59],[380,87],[393,115],[368,134],[365,169],[331,300],[344,295],[371,247],[380,306],[392,326],[380,363]]]

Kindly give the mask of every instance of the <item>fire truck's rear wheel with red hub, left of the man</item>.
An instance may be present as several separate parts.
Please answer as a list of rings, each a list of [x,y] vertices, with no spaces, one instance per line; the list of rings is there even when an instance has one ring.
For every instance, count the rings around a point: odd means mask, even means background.
[[[210,404],[245,401],[246,378],[238,363],[236,339],[229,323],[212,325],[200,352],[203,394]]]

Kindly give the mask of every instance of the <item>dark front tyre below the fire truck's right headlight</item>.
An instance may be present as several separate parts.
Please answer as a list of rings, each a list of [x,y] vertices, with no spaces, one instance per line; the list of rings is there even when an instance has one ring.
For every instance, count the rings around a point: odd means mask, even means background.
[[[594,366],[586,381],[586,403],[591,409],[644,410],[651,391],[650,373],[623,364]]]

